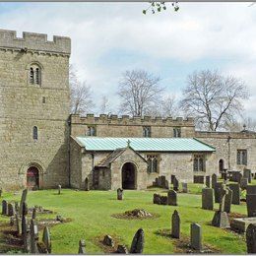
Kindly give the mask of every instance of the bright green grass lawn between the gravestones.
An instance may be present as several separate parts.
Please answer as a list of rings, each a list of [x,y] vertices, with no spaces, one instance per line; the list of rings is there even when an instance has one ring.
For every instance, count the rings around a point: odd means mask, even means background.
[[[197,186],[196,184],[195,186]],[[201,186],[201,185],[199,185]],[[192,187],[191,187],[192,188]],[[197,188],[193,187],[193,191]],[[198,188],[199,190],[199,188]],[[160,190],[158,190],[160,192]],[[243,235],[223,230],[211,225],[214,211],[201,209],[201,195],[178,194],[178,206],[160,206],[153,204],[154,189],[148,191],[124,191],[124,200],[116,200],[116,191],[75,191],[57,190],[29,191],[28,204],[40,205],[61,215],[71,218],[72,222],[57,224],[51,227],[52,253],[77,253],[80,239],[86,240],[86,250],[89,254],[103,253],[96,243],[96,237],[109,234],[126,244],[131,245],[133,235],[138,228],[145,231],[146,254],[169,254],[175,252],[174,239],[160,236],[158,230],[170,228],[170,217],[176,209],[181,219],[181,236],[189,236],[190,224],[195,222],[202,225],[203,241],[219,249],[222,253],[246,253]],[[6,193],[6,200],[20,201],[18,195]],[[121,220],[112,218],[112,214],[123,213],[135,208],[145,209],[150,213],[159,214],[158,219]],[[218,208],[218,205],[215,206]],[[246,206],[233,206],[231,211],[246,214]],[[49,217],[49,216],[47,216]],[[45,215],[38,216],[45,218]],[[8,217],[0,217],[0,222],[9,222]],[[1,251],[1,248],[0,248]]]

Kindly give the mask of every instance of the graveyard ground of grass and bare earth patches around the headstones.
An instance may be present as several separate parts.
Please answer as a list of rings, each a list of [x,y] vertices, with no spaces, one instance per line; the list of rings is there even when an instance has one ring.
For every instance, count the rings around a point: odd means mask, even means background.
[[[250,185],[253,184],[256,184],[256,180],[251,181]],[[87,254],[113,253],[117,245],[125,245],[129,250],[139,228],[144,231],[144,254],[196,252],[190,248],[191,224],[201,226],[202,253],[246,253],[244,233],[212,224],[215,210],[219,210],[220,204],[213,205],[214,211],[202,209],[202,189],[206,187],[205,184],[189,183],[187,187],[188,193],[183,193],[179,188],[176,206],[153,203],[154,194],[167,195],[168,190],[159,187],[151,187],[145,191],[124,190],[122,200],[117,200],[116,191],[61,189],[58,193],[58,188],[29,191],[27,204],[29,209],[40,206],[50,210],[45,214],[36,214],[38,224],[40,220],[54,220],[56,216],[67,220],[48,226],[51,253],[54,254],[77,253],[80,240],[85,240]],[[241,194],[243,197],[243,193]],[[21,196],[22,191],[3,192],[2,200],[20,202]],[[144,210],[152,218],[116,218],[117,215],[134,209]],[[175,210],[180,219],[179,238],[170,235],[171,216]],[[246,203],[241,200],[240,205],[232,204],[227,215],[229,221],[247,217]],[[10,245],[10,237],[6,232],[10,217],[1,215],[0,223],[0,252],[25,252],[23,245]],[[15,229],[15,225],[11,228]],[[38,235],[40,240],[41,228]],[[103,244],[105,235],[112,238],[113,247]]]

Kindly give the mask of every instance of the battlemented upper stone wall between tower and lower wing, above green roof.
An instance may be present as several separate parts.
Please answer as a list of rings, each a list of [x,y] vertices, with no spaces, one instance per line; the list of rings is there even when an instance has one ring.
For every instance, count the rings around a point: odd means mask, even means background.
[[[173,128],[181,128],[181,137],[194,137],[194,121],[193,118],[183,119],[177,117],[152,118],[144,117],[129,117],[123,115],[107,116],[101,114],[95,117],[93,114],[88,114],[86,117],[79,115],[71,115],[71,135],[85,136],[87,135],[88,126],[96,126],[96,136],[98,137],[143,137],[143,126],[151,126],[152,137],[164,138],[173,137]]]

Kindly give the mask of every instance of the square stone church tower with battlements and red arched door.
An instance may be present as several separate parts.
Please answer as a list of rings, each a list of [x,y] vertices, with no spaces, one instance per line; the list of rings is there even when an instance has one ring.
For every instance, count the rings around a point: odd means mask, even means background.
[[[0,30],[0,187],[68,186],[69,37]]]

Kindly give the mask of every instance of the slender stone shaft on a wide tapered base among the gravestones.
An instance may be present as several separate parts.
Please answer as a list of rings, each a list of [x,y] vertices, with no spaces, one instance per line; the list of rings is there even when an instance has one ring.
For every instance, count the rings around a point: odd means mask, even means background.
[[[219,211],[215,213],[214,219],[212,221],[212,224],[214,226],[223,227],[223,228],[230,227],[227,214],[224,212],[224,200],[227,193],[228,191],[226,190],[225,185],[223,185],[221,189],[220,208],[219,208]]]

